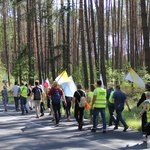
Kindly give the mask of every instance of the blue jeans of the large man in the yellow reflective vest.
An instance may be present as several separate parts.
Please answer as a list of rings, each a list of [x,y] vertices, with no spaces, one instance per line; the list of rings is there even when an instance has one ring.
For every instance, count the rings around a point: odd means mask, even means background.
[[[94,108],[93,111],[93,129],[97,128],[97,117],[101,113],[102,121],[103,121],[103,130],[106,130],[106,116],[105,116],[105,108]]]

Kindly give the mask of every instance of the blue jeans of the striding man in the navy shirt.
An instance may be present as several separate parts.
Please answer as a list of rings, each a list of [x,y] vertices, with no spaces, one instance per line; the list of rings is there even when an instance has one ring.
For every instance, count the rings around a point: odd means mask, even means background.
[[[123,111],[123,108],[119,110],[116,109],[116,114],[117,114],[116,127],[118,127],[119,121],[123,124],[124,127],[127,127],[127,124],[122,117],[122,111]]]

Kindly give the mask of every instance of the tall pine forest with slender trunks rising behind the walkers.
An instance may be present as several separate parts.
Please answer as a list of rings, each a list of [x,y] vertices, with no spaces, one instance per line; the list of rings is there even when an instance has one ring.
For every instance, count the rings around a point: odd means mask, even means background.
[[[149,0],[1,0],[0,69],[30,84],[66,70],[85,88],[150,73]]]

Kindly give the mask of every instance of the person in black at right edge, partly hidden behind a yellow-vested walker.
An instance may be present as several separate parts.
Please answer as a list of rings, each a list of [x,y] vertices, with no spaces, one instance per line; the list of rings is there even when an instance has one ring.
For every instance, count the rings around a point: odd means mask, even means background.
[[[146,93],[150,91],[150,82],[148,82],[145,85],[145,90],[146,91],[144,93],[142,93],[141,98],[137,102],[137,107],[139,107],[141,104],[143,104],[143,102],[146,100]],[[147,124],[147,114],[146,114],[146,111],[142,114],[141,121],[142,121],[142,124],[141,124],[141,126],[142,126],[142,132],[143,132],[143,134],[145,134],[145,132],[146,132],[145,125]]]

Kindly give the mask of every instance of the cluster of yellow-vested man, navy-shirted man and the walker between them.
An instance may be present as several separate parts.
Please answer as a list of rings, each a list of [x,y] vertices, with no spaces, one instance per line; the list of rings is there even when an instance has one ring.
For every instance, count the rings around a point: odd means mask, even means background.
[[[124,92],[121,91],[120,86],[116,86],[116,90],[113,89],[113,83],[109,85],[109,88],[106,90],[101,87],[102,82],[100,80],[97,81],[97,87],[93,91],[92,96],[92,104],[91,109],[93,113],[93,128],[91,129],[92,132],[96,132],[97,129],[97,118],[99,117],[99,113],[102,117],[103,123],[103,131],[102,133],[106,133],[106,113],[105,109],[108,104],[109,109],[109,126],[115,125],[114,129],[118,129],[119,121],[123,124],[125,132],[128,129],[128,125],[126,124],[125,120],[122,117],[122,111],[124,110],[124,103],[127,104],[128,109],[130,111],[129,104],[126,99],[126,95]],[[91,91],[90,91],[91,93]],[[90,94],[89,94],[90,95]],[[114,115],[114,111],[116,110],[116,115]]]

